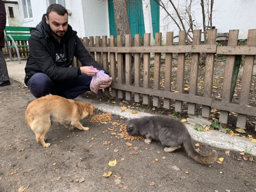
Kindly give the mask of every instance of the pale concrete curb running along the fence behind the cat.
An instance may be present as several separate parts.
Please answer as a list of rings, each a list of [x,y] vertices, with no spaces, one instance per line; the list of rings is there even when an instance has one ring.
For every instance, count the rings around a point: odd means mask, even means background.
[[[131,114],[131,109],[127,108],[125,112],[121,112],[121,108],[117,106],[112,106],[109,104],[105,104],[102,102],[97,102],[92,99],[84,99],[81,97],[77,97],[75,100],[81,102],[89,102],[94,105],[96,109],[102,110],[105,113],[112,113],[115,115],[123,116],[126,119],[131,118],[139,118],[141,116],[148,116],[152,114],[144,113],[138,111],[136,114]],[[231,136],[229,134],[225,134],[221,131],[209,130],[209,131],[196,131],[194,129],[195,125],[187,124],[186,128],[189,131],[192,139],[200,142],[205,143],[207,145],[211,145],[212,147],[218,147],[227,150],[234,150],[234,151],[244,151],[246,148],[247,151],[251,149],[250,154],[256,156],[256,143],[251,143],[248,138]]]

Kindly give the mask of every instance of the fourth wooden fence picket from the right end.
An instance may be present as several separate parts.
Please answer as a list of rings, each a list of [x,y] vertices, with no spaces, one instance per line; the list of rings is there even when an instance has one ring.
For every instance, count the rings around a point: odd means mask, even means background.
[[[194,30],[193,45],[199,45],[200,43],[201,43],[201,30]],[[192,53],[189,95],[197,94],[199,56],[200,56],[200,53]],[[196,106],[195,103],[188,104],[189,114],[195,115],[195,106]]]

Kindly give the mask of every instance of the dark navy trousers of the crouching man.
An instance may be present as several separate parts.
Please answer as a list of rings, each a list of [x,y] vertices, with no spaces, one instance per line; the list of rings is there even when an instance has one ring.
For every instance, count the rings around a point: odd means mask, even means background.
[[[44,73],[36,73],[29,79],[29,90],[36,98],[46,96],[49,93],[67,99],[74,99],[86,91],[90,91],[92,76],[82,74],[78,79],[52,81]]]

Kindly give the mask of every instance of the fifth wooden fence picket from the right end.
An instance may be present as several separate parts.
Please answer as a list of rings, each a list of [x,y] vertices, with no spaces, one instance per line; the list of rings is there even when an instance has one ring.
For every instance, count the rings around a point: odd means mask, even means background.
[[[186,44],[186,31],[179,32],[179,45]],[[178,53],[177,62],[177,91],[183,93],[185,71],[185,53]],[[175,101],[175,111],[182,111],[182,101]]]

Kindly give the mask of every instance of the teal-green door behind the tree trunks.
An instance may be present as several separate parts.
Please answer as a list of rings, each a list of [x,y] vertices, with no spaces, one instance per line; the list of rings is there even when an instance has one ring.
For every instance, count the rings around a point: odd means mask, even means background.
[[[153,33],[155,33],[155,32],[159,32],[159,5],[155,3],[154,0],[151,0],[150,3],[151,3]],[[143,17],[142,0],[128,0],[128,15],[129,15],[129,22],[130,22],[132,37],[134,37],[134,34],[136,33],[140,33],[140,36],[144,37],[145,24],[144,24],[144,17]],[[116,26],[115,26],[114,9],[113,9],[112,0],[108,0],[108,17],[109,17],[110,35],[116,36]]]

